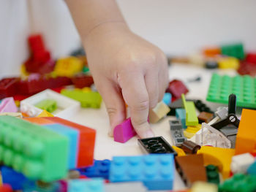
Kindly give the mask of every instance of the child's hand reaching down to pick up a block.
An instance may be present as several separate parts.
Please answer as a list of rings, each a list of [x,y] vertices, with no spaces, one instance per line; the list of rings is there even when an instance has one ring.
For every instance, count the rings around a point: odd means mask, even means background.
[[[157,105],[168,83],[167,59],[158,47],[129,31],[124,23],[105,23],[83,39],[95,85],[105,101],[113,128],[126,119],[140,137],[153,137],[148,110]]]

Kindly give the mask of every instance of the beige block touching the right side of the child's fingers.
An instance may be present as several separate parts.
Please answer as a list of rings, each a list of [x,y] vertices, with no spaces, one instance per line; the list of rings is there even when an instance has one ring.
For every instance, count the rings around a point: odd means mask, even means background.
[[[163,101],[160,101],[154,109],[149,110],[149,123],[157,123],[168,112],[170,112],[170,108]]]

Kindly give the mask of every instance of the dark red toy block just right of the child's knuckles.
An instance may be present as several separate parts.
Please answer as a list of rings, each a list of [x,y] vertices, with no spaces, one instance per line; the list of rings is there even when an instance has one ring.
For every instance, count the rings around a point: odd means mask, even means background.
[[[184,85],[184,83],[180,80],[173,80],[169,83],[166,92],[171,93],[172,96],[176,97],[176,99],[179,99],[181,98],[182,93],[186,94],[187,92],[189,92],[189,90],[187,89],[186,85]]]

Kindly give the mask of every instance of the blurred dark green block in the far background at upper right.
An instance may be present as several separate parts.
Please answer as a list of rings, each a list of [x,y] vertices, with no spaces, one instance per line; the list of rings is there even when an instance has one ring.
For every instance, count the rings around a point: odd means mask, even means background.
[[[222,50],[222,55],[231,56],[234,58],[238,58],[240,60],[243,60],[245,58],[244,46],[241,43],[233,44],[233,45],[222,45],[221,50]]]

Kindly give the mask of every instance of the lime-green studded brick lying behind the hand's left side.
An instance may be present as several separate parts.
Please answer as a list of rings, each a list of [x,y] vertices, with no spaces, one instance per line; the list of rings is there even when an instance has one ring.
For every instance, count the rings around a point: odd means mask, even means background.
[[[82,90],[61,90],[61,94],[71,99],[75,99],[80,102],[81,107],[99,108],[102,102],[102,97],[97,92],[89,91],[85,92]]]

